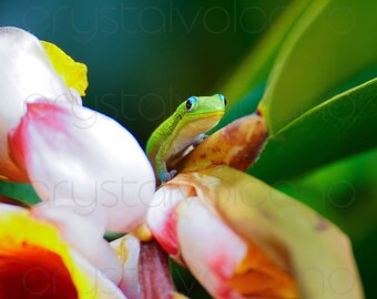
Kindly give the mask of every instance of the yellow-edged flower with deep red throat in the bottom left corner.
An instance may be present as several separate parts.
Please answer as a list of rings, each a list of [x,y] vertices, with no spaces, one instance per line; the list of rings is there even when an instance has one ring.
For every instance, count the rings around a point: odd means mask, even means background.
[[[27,209],[0,205],[0,297],[125,298],[60,233]]]

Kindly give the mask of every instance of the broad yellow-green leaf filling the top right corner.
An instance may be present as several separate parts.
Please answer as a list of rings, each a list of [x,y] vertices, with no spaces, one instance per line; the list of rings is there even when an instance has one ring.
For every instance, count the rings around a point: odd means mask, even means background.
[[[377,1],[314,1],[281,50],[259,109],[272,134],[377,63]]]

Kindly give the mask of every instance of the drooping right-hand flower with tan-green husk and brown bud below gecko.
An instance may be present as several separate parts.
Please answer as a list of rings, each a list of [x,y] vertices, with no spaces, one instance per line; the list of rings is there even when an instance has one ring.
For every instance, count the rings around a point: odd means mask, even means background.
[[[222,146],[220,141],[230,140],[226,132],[238,136],[242,124],[252,120],[261,122],[259,116],[237,120],[181,162],[181,173],[160,187],[151,204],[147,225],[154,237],[215,298],[363,298],[348,238],[339,229],[305,205],[226,166],[247,168],[233,155],[244,153],[242,146]],[[263,138],[255,137],[264,136],[263,127],[248,132],[257,150],[263,142],[255,141]],[[220,153],[218,158],[202,151]],[[192,166],[193,159],[200,162]]]

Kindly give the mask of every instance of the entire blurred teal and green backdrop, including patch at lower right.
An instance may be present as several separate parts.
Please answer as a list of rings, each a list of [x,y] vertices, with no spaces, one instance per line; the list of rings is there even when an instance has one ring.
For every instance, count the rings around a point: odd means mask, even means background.
[[[289,3],[3,0],[0,25],[26,29],[85,63],[90,85],[84,105],[118,120],[143,146],[184,99],[222,92],[223,83],[276,27]],[[251,95],[255,103],[264,86]],[[232,94],[225,95],[232,102]],[[376,148],[274,184],[351,237],[367,298],[377,298],[376,185]],[[1,194],[18,198],[12,185],[0,188]],[[205,298],[183,269],[174,266],[173,272],[181,291]]]

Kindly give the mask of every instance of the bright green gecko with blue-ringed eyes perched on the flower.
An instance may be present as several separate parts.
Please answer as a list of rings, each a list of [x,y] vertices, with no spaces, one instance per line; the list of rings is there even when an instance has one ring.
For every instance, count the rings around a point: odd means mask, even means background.
[[[203,133],[223,117],[225,105],[222,94],[191,96],[152,133],[146,143],[146,154],[161,183],[172,179],[176,173],[167,172],[169,159],[202,141]]]

